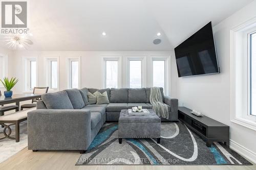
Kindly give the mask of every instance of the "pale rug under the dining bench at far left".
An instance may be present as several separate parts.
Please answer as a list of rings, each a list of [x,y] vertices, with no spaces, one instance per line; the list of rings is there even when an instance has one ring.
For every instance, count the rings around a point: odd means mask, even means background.
[[[11,137],[15,137],[15,126],[10,127],[12,130]],[[0,126],[0,138],[4,137],[3,130],[4,128]],[[19,133],[19,142],[8,138],[0,140],[0,163],[28,147],[27,121],[19,124]]]

